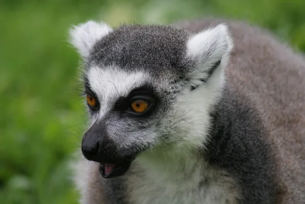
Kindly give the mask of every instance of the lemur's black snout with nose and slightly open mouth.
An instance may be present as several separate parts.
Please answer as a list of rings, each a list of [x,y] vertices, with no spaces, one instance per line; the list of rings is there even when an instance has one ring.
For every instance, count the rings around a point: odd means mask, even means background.
[[[100,163],[104,178],[122,176],[135,157],[130,151],[118,150],[101,124],[94,124],[84,134],[81,151],[87,160]]]

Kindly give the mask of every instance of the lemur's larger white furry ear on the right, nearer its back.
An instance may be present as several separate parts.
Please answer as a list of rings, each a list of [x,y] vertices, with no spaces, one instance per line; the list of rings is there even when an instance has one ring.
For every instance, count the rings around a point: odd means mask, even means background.
[[[191,36],[187,56],[196,63],[193,76],[205,82],[218,67],[226,66],[232,48],[233,41],[225,24]]]

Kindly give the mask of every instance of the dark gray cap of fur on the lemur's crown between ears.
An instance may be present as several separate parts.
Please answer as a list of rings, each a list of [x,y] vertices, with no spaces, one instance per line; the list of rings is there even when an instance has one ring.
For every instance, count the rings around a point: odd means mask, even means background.
[[[185,78],[185,68],[191,68],[185,60],[189,35],[172,26],[122,25],[95,44],[88,62],[129,71],[145,67],[154,76],[162,75],[166,68]]]

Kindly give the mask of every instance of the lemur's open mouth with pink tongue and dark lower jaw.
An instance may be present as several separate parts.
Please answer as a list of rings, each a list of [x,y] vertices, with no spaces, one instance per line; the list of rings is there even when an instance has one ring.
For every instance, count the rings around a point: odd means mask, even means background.
[[[110,179],[114,177],[123,176],[123,174],[125,174],[126,171],[129,169],[130,165],[131,165],[130,163],[122,164],[122,165],[100,163],[99,170],[103,178]]]

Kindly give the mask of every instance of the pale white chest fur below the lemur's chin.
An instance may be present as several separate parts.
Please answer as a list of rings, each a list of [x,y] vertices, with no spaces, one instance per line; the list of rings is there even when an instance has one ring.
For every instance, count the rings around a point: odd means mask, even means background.
[[[164,163],[162,158],[153,162],[138,159],[136,162],[142,172],[126,177],[130,203],[236,203],[239,189],[235,181],[228,173],[207,166],[200,158],[192,157],[178,163]]]

